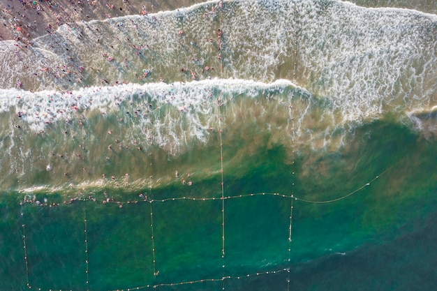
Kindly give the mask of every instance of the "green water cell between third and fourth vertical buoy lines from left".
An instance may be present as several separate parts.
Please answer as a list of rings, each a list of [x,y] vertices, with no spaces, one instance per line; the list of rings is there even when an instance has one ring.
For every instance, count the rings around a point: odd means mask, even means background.
[[[216,278],[221,272],[221,201],[154,203],[159,283]]]

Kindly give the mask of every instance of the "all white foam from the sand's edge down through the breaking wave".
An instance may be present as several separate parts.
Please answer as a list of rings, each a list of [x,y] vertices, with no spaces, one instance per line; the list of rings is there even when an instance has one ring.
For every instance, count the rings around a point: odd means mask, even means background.
[[[336,126],[437,103],[436,15],[312,0],[225,1],[221,17],[219,13],[218,1],[208,1],[147,17],[62,25],[56,33],[34,40],[28,50],[2,42],[1,68],[12,72],[2,86],[15,87],[26,79],[39,91],[5,89],[1,110],[15,107],[38,131],[82,110],[126,110],[129,102],[131,109],[144,109],[140,100],[147,96],[154,110],[170,105],[167,117],[140,120],[164,145],[205,140],[204,129],[216,122],[209,90],[230,96],[258,94],[272,86],[283,90],[294,87],[292,83],[304,87],[311,98],[302,103],[299,114],[290,113],[293,135],[329,135]],[[223,32],[222,50],[218,28]],[[50,70],[41,71],[48,66]],[[151,71],[141,81],[147,84],[106,84],[140,82],[137,76],[145,69]],[[202,81],[177,82],[191,80],[191,73]],[[159,77],[172,84],[158,82]],[[292,82],[275,81],[279,79]],[[102,82],[105,86],[99,87]],[[309,118],[316,108],[324,111],[316,114],[323,124],[318,127],[309,125],[316,124]],[[171,114],[177,111],[184,114]]]

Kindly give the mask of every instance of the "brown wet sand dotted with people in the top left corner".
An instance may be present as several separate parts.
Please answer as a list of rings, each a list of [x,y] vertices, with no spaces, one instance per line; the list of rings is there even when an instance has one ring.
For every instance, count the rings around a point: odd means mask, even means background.
[[[192,6],[207,0],[5,0],[0,3],[0,40],[33,38],[68,22],[104,20]]]

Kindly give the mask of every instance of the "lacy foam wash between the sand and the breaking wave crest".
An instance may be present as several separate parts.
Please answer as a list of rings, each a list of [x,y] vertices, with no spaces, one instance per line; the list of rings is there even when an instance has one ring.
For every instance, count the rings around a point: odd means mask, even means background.
[[[216,61],[218,17],[216,12],[211,14],[217,3],[209,1],[147,17],[133,15],[83,22],[75,27],[63,25],[52,36],[36,39],[34,52],[28,56],[21,52],[22,58],[24,63],[36,63],[31,66],[38,71],[50,63],[71,67],[68,57],[72,57],[86,64],[86,70],[100,69],[98,74],[87,72],[88,81],[94,83],[101,81],[98,75],[108,80],[124,77],[132,80],[129,73],[143,67],[138,64],[153,69],[160,77],[172,72],[174,80],[184,79],[182,74],[175,73],[181,67],[197,72],[200,78],[208,77],[205,72],[200,73],[200,68],[219,66]],[[421,79],[417,87],[423,87],[428,72],[422,70],[422,63],[435,59],[436,40],[432,32],[435,22],[436,15],[414,10],[361,8],[338,1],[225,1],[221,24],[223,74],[263,82],[272,82],[279,74],[279,77],[297,79],[315,94],[353,97],[364,91],[373,98],[391,89],[394,82],[408,84],[409,80],[401,80],[401,71],[412,68],[424,74],[416,74]],[[178,31],[184,31],[184,36]],[[209,38],[213,41],[207,41]],[[195,46],[189,45],[191,41]],[[146,44],[149,47],[144,47]],[[132,45],[140,46],[140,50],[132,50]],[[296,60],[294,50],[297,50]],[[49,52],[57,57],[50,60]],[[139,52],[142,54],[133,56]],[[114,61],[107,61],[103,53]],[[40,54],[43,57],[38,57]],[[403,64],[406,56],[413,61]],[[13,54],[8,57],[14,58]],[[129,59],[129,69],[123,68],[121,60],[125,57]],[[297,72],[292,66],[295,61]],[[290,72],[276,72],[281,66]],[[17,67],[15,71],[20,75],[25,70]],[[297,76],[293,77],[292,73]],[[44,82],[43,87],[71,86],[46,75],[39,74],[43,81],[50,81]],[[366,86],[376,80],[381,82],[376,88]],[[13,81],[5,82],[15,86]]]

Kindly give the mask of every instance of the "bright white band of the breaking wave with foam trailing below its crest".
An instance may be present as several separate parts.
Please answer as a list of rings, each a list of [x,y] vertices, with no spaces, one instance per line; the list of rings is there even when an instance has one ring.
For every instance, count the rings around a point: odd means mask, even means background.
[[[0,112],[15,109],[19,117],[31,128],[44,130],[47,124],[66,121],[80,116],[78,112],[98,110],[102,114],[125,110],[126,107],[156,107],[169,105],[175,110],[190,115],[212,114],[214,103],[212,90],[222,94],[246,94],[255,96],[263,89],[283,89],[294,86],[288,80],[276,80],[272,84],[248,80],[202,80],[199,82],[174,82],[171,84],[120,84],[112,87],[86,87],[73,91],[24,91],[17,89],[0,90]],[[148,102],[147,102],[148,101]],[[124,105],[123,105],[124,104]],[[123,106],[121,106],[123,105]],[[149,108],[147,107],[147,108]],[[193,114],[190,117],[194,117]],[[208,126],[198,119],[193,126]]]

